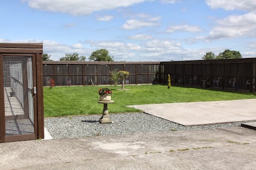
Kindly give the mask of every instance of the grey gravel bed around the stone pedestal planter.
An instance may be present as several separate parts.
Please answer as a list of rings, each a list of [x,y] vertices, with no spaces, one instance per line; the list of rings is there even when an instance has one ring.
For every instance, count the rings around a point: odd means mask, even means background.
[[[101,115],[48,117],[44,119],[44,125],[52,138],[74,138],[110,134],[218,129],[230,126],[240,126],[241,123],[244,123],[235,122],[202,126],[183,126],[146,113],[124,113],[110,114],[109,117],[113,123],[101,124],[98,122],[100,117]]]

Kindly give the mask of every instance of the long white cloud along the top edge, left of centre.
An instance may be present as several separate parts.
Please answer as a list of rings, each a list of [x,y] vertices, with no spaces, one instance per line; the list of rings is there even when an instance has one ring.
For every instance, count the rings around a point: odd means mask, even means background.
[[[111,10],[142,3],[146,0],[23,0],[31,8],[52,12],[64,12],[72,15],[87,15],[95,11]]]

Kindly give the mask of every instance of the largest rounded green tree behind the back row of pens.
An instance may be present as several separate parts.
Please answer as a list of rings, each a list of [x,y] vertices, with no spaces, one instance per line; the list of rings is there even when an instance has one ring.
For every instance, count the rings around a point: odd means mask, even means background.
[[[107,49],[99,49],[94,52],[92,52],[91,56],[89,57],[90,61],[114,61],[113,56],[109,55],[109,52]]]

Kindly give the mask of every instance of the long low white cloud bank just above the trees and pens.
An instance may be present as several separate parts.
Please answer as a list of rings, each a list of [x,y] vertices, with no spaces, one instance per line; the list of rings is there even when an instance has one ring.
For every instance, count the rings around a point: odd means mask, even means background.
[[[180,43],[166,39],[153,39],[142,44],[123,43],[118,41],[86,41],[90,48],[82,44],[61,44],[49,40],[6,40],[0,39],[0,43],[43,43],[44,53],[51,55],[51,59],[59,61],[65,54],[78,53],[87,58],[91,53],[100,48],[106,48],[115,61],[180,61],[201,60],[206,52],[217,53],[223,49],[186,49]],[[255,52],[241,53],[244,57],[253,57]]]

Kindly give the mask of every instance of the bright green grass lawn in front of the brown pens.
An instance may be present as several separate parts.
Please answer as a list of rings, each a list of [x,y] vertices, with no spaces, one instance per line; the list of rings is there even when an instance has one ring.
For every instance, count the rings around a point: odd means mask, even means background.
[[[102,114],[103,105],[98,104],[98,90],[106,86],[81,87],[49,87],[44,88],[44,115],[67,116]],[[250,92],[229,92],[212,89],[189,87],[171,87],[162,85],[125,86],[130,91],[118,91],[121,86],[110,86],[113,90],[111,99],[115,101],[108,105],[109,113],[140,112],[126,105],[184,103],[194,101],[218,101],[255,99]]]

